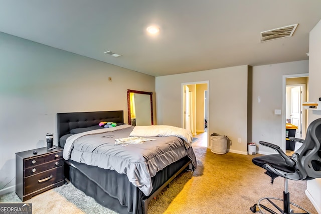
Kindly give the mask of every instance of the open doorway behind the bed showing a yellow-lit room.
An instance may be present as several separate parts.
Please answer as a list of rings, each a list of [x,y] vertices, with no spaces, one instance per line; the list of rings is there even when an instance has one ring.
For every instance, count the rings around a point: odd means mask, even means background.
[[[182,83],[182,127],[193,136],[209,129],[208,87],[209,81]]]

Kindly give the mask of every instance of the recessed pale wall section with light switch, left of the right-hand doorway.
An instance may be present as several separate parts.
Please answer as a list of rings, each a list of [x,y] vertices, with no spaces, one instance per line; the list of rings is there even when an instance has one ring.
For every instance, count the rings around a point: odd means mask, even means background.
[[[282,76],[308,73],[308,60],[253,66],[252,80],[252,141],[266,141],[279,145],[285,150],[282,115],[274,110],[282,110]],[[258,101],[260,97],[260,102]],[[283,112],[282,114],[285,114]],[[285,135],[284,135],[285,136]],[[258,145],[260,154],[275,153],[268,147]]]

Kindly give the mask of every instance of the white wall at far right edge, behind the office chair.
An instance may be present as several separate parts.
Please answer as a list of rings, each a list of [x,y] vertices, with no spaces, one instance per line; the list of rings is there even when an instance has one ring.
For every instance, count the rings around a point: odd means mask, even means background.
[[[308,101],[317,101],[321,97],[321,20],[309,34],[309,96]],[[321,118],[321,111],[308,111],[308,124]],[[318,213],[321,213],[321,178],[308,180],[306,195]]]

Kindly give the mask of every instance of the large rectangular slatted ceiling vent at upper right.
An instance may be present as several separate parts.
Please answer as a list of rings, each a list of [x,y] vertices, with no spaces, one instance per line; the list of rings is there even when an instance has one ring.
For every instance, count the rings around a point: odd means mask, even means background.
[[[294,33],[298,24],[288,25],[282,28],[276,28],[269,31],[263,31],[260,35],[260,42],[266,42],[269,40],[290,37]]]

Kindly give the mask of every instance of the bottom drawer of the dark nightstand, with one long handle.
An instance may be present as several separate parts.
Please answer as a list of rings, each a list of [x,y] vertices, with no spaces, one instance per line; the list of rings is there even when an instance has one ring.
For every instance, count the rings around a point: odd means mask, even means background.
[[[63,166],[59,166],[42,173],[26,177],[24,195],[62,180]]]

